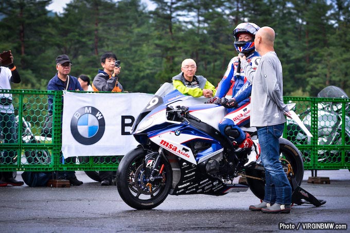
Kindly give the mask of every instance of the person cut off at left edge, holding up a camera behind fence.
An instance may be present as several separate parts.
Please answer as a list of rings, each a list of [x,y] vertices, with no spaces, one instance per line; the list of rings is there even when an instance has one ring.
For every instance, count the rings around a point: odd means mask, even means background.
[[[11,50],[5,51],[0,54],[0,89],[11,89],[11,83],[20,83],[21,77],[18,73],[16,66],[13,65],[13,55]],[[3,65],[7,65],[5,67]],[[17,141],[17,132],[14,126],[14,108],[12,105],[12,94],[1,93],[0,94],[0,131],[3,134],[3,143],[15,143]],[[14,150],[4,150],[0,161],[4,164],[13,164],[16,154]],[[13,186],[23,185],[22,181],[17,181],[13,178],[12,171],[3,171],[2,180],[0,179],[0,187],[7,186],[8,184]],[[1,176],[0,176],[1,177]]]

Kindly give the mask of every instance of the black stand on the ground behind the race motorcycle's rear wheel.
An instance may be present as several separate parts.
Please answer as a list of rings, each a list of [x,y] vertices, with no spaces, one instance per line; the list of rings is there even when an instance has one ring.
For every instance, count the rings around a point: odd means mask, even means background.
[[[291,177],[292,183],[292,203],[297,205],[312,204],[314,206],[321,206],[326,203],[325,200],[315,198],[310,192],[301,188],[294,177]]]

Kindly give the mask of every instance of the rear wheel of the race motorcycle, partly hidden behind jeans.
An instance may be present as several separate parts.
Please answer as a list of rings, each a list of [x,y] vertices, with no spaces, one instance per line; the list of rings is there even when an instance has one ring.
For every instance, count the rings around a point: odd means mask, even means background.
[[[296,183],[299,185],[303,181],[304,177],[304,163],[303,158],[298,150],[290,141],[280,138],[279,139],[279,154],[282,158],[281,163],[284,168],[290,163],[292,170],[294,172],[294,177]],[[253,178],[247,178],[250,189],[254,195],[260,200],[264,200],[265,196],[265,171],[257,169],[247,169],[246,174],[248,176],[253,176],[257,178],[262,178],[263,180],[257,180]],[[288,175],[287,175],[288,177]],[[289,177],[288,177],[289,179]],[[293,190],[292,190],[293,191]]]

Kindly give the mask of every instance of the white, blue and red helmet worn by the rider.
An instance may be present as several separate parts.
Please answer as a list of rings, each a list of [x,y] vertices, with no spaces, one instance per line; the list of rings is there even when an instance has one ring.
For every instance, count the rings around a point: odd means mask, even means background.
[[[235,37],[235,49],[237,52],[242,53],[250,53],[255,50],[254,46],[254,38],[256,32],[260,29],[259,26],[257,26],[254,23],[240,23],[237,25],[237,27],[233,30],[233,36]],[[247,33],[252,35],[251,41],[238,41],[239,34]]]

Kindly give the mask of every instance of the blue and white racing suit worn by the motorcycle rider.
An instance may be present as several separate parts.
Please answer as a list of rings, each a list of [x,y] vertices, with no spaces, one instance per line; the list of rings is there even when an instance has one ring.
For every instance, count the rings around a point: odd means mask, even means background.
[[[247,56],[247,62],[256,69],[260,61],[259,53],[254,51]],[[236,99],[238,106],[228,108],[228,114],[219,122],[219,129],[223,135],[225,128],[231,126],[239,132],[239,136],[234,139],[237,145],[241,144],[246,139],[246,134],[239,128],[239,126],[249,125],[250,123],[250,95],[252,92],[252,85],[244,75],[243,69],[237,72],[238,56],[231,59],[228,69],[226,70],[222,80],[218,85],[216,96],[219,98],[225,97],[232,88],[232,98]],[[229,98],[228,98],[229,99]],[[229,135],[226,135],[229,136]]]

